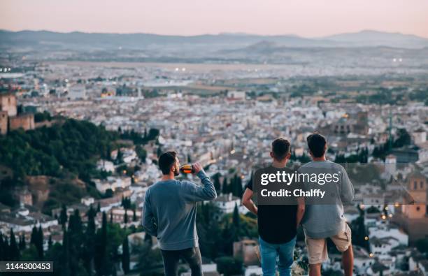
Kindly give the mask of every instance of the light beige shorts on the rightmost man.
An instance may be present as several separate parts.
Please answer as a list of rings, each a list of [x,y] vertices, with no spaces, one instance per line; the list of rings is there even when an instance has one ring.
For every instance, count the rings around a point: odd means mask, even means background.
[[[340,252],[345,252],[351,244],[351,230],[345,224],[345,231],[329,237]],[[327,241],[325,238],[314,239],[306,236],[306,247],[308,248],[309,264],[315,265],[329,259],[327,253]]]

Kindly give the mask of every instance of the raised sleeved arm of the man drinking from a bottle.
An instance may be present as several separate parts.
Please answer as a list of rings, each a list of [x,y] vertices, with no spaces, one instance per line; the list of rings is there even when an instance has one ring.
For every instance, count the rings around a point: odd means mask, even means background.
[[[186,201],[212,201],[217,197],[217,192],[215,191],[215,187],[210,177],[206,175],[203,168],[201,168],[200,164],[194,164],[194,169],[197,177],[201,179],[202,185],[199,186],[192,182],[184,182],[185,186],[183,189],[183,196]]]

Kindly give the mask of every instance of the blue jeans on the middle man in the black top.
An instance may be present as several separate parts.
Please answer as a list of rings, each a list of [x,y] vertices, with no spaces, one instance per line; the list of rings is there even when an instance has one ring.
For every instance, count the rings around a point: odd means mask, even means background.
[[[296,237],[290,240],[290,242],[285,242],[278,245],[265,242],[262,240],[262,238],[259,238],[259,245],[260,256],[262,257],[263,276],[276,275],[277,261],[280,276],[291,275],[291,266],[294,259],[294,245],[296,245]]]

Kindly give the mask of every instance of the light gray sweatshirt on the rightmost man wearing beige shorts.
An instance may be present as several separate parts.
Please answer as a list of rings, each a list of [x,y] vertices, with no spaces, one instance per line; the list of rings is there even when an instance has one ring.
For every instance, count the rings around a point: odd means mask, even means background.
[[[337,194],[335,204],[309,204],[306,205],[302,224],[305,234],[310,238],[329,238],[345,231],[345,217],[343,203],[352,203],[354,187],[350,182],[348,173],[343,166],[331,161],[312,161],[299,168],[299,173],[340,173],[341,180],[335,187],[329,187]],[[334,184],[327,184],[334,185]],[[305,188],[313,188],[313,184],[305,182]],[[316,203],[316,202],[315,202]]]

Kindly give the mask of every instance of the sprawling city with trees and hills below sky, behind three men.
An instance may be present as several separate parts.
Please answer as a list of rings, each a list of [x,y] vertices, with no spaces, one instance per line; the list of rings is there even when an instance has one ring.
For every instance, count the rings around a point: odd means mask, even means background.
[[[428,275],[428,38],[2,30],[0,49],[0,261],[164,275],[141,220],[176,150],[217,191],[197,207],[204,275],[262,275],[243,192],[272,140],[290,140],[298,168],[319,131],[355,187],[354,275]],[[343,275],[327,247],[322,275]],[[308,275],[301,227],[292,275]]]

